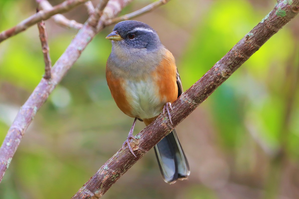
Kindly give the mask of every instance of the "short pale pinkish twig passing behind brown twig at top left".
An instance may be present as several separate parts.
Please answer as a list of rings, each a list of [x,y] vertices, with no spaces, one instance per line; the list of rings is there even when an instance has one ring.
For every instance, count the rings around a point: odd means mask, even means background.
[[[36,2],[39,4],[39,7],[41,8],[41,10],[53,9],[53,6],[47,0],[36,0]],[[55,23],[57,23],[61,26],[64,26],[64,27],[74,28],[77,30],[80,30],[83,27],[83,24],[80,24],[75,20],[69,20],[69,19],[65,18],[65,16],[63,16],[62,14],[56,14],[56,15],[52,16],[52,18],[54,19]]]

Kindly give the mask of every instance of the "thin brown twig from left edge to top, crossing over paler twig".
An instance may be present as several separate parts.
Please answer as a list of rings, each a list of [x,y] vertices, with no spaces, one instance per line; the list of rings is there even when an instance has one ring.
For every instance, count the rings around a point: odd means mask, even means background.
[[[41,20],[46,20],[58,13],[65,13],[78,5],[83,4],[86,1],[88,0],[67,0],[62,2],[61,4],[54,6],[51,10],[41,10],[38,13],[35,13],[34,15],[31,15],[27,19],[21,21],[15,27],[2,31],[0,33],[0,42],[26,30],[28,27],[36,24]]]

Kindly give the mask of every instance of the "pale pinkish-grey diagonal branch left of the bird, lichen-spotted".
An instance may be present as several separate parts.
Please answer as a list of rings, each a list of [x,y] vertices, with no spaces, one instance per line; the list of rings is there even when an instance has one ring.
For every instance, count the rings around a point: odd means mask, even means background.
[[[110,0],[104,9],[100,21],[105,21],[108,18],[117,16],[122,8],[131,1],[132,0]],[[0,182],[36,112],[45,103],[50,93],[62,80],[75,61],[77,61],[81,52],[96,33],[94,27],[85,23],[71,41],[71,44],[52,67],[52,78],[50,80],[42,78],[28,100],[20,108],[0,148]]]

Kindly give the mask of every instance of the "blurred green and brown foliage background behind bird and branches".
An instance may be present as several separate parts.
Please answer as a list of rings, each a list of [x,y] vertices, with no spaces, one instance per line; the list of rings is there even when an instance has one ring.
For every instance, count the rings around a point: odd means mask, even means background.
[[[62,0],[50,1],[52,5]],[[92,1],[97,4],[98,1]],[[129,13],[151,3],[135,0]],[[276,0],[172,0],[136,18],[173,53],[184,90],[273,8]],[[0,30],[35,13],[0,0]],[[84,23],[84,6],[66,13]],[[47,20],[52,63],[76,30]],[[133,118],[111,98],[105,64],[113,25],[99,33],[38,111],[0,184],[0,198],[71,198],[120,149]],[[299,198],[299,17],[274,35],[179,126],[190,178],[164,183],[151,150],[103,199]],[[0,44],[0,140],[44,74],[38,29]],[[144,128],[138,122],[134,135]]]

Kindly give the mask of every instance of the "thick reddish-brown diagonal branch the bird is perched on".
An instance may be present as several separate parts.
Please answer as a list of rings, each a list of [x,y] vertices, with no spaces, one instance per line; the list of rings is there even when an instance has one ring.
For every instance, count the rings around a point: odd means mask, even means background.
[[[173,126],[167,117],[160,114],[155,121],[136,135],[138,146],[133,141],[131,142],[137,158],[129,150],[120,149],[81,187],[72,199],[100,198],[149,149],[205,101],[271,36],[294,18],[298,11],[299,0],[280,1],[256,27],[173,103],[173,111],[171,111]]]

